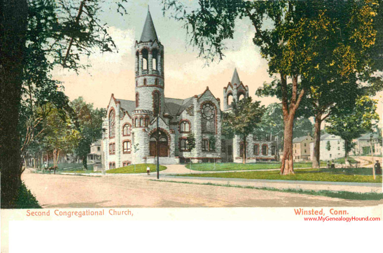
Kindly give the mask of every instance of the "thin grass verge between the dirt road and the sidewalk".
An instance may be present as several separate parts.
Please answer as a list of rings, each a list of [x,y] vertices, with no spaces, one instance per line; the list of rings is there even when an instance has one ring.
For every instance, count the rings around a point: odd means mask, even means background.
[[[275,191],[275,192],[290,192],[290,193],[298,193],[298,194],[307,194],[314,196],[325,196],[331,198],[339,198],[346,200],[382,200],[383,193],[359,193],[359,192],[347,192],[347,191],[329,191],[329,190],[302,190],[302,189],[278,189],[273,187],[254,187],[254,186],[241,186],[241,185],[230,185],[230,184],[213,184],[213,183],[193,183],[193,182],[179,182],[179,181],[171,181],[171,180],[154,180],[149,179],[151,181],[160,181],[160,182],[170,182],[170,183],[182,183],[182,184],[200,184],[200,185],[214,185],[214,186],[224,186],[224,187],[236,187],[243,189],[255,189],[255,190],[264,190],[264,191]]]

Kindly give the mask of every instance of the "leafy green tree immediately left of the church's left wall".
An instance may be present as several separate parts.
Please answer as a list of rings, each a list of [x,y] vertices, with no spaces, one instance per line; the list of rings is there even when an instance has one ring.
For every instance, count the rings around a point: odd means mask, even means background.
[[[93,104],[87,104],[83,97],[71,102],[76,113],[80,138],[75,148],[75,153],[83,160],[84,169],[87,169],[87,155],[90,153],[90,144],[102,137],[102,118],[106,110],[93,109]]]

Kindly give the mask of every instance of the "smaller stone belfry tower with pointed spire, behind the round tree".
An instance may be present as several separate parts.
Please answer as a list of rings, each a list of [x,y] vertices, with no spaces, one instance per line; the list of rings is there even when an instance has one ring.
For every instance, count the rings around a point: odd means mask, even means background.
[[[242,84],[235,68],[231,82],[223,87],[223,111],[231,110],[231,101],[238,101],[245,97],[249,97],[249,87]]]

